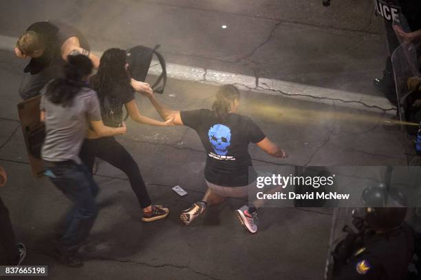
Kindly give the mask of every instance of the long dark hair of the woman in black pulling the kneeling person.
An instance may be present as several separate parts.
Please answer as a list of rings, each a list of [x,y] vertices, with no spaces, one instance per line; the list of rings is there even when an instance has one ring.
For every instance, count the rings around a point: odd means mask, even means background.
[[[112,94],[116,86],[130,86],[130,77],[125,65],[126,51],[123,49],[107,49],[102,54],[98,72],[89,80],[100,100],[105,95]]]

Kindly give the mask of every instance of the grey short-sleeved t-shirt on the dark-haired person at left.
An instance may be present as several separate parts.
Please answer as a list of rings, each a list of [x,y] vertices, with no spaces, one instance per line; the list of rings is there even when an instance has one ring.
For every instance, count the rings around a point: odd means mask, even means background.
[[[41,150],[45,161],[68,161],[77,164],[89,121],[100,121],[101,110],[96,91],[83,88],[72,106],[63,107],[41,96],[40,109],[45,111],[45,141]]]

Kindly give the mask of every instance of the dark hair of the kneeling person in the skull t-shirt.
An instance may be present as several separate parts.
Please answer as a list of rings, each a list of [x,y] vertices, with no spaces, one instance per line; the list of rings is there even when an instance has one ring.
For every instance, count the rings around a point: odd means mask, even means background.
[[[219,87],[212,110],[219,121],[224,121],[231,111],[231,104],[239,99],[239,90],[233,84],[224,84]]]

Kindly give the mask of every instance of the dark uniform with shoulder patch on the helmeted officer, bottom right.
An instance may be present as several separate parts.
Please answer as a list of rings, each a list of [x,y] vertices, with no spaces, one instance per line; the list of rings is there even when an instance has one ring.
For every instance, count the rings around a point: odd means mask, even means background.
[[[413,231],[404,224],[387,233],[366,235],[345,264],[335,264],[334,280],[403,280],[413,256]]]

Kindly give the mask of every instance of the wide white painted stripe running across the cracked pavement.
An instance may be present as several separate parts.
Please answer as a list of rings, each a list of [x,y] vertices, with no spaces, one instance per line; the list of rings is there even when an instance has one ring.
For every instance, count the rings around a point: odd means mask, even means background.
[[[16,41],[17,38],[0,35],[0,49],[13,51]],[[93,53],[98,56],[102,54],[98,51],[93,51]],[[168,77],[176,80],[202,82],[213,85],[235,84],[239,89],[252,93],[277,95],[325,104],[334,103],[338,106],[347,108],[368,110],[390,115],[396,114],[396,108],[393,107],[385,97],[336,89],[326,89],[319,86],[309,86],[281,80],[255,78],[248,75],[238,75],[235,73],[177,65],[173,63],[167,63],[166,67]],[[153,61],[153,67],[151,67],[149,73],[152,75],[159,75],[160,67],[158,61]]]

